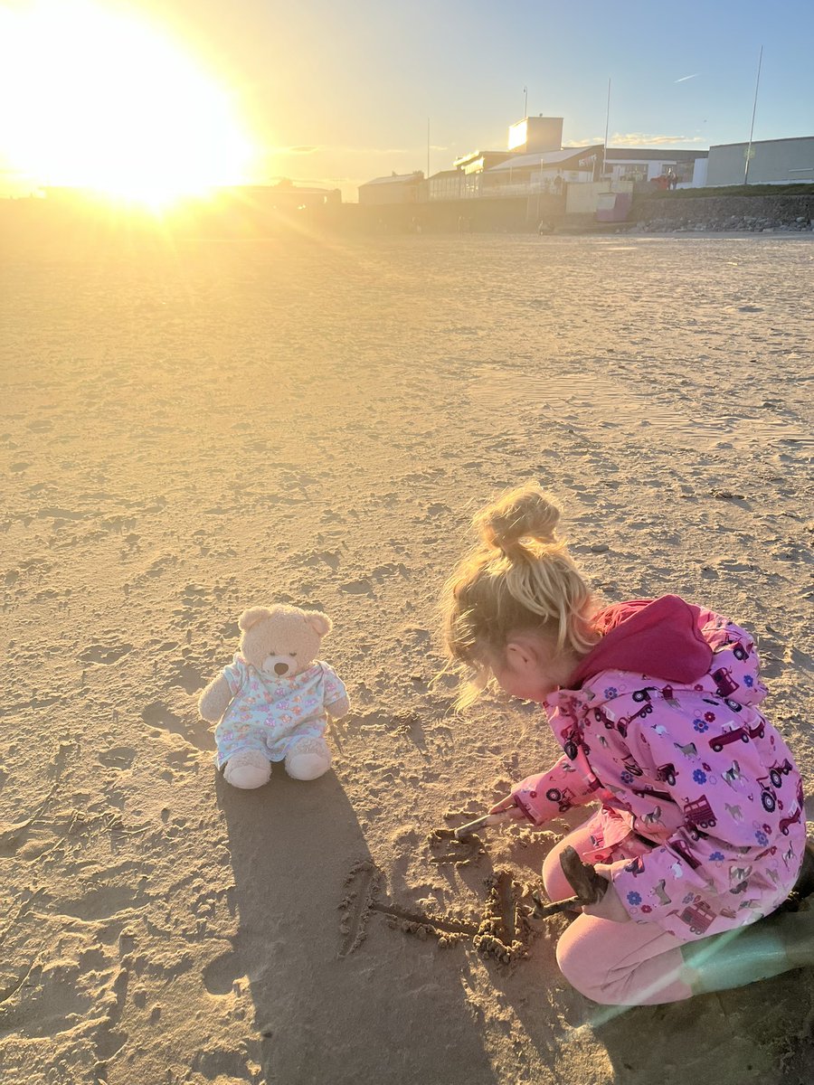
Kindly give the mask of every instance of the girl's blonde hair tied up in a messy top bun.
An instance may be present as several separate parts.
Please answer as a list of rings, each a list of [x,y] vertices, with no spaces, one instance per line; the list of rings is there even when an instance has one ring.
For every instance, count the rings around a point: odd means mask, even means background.
[[[444,585],[443,634],[450,661],[467,673],[457,706],[488,685],[489,655],[512,634],[551,637],[558,652],[584,655],[599,639],[594,596],[557,538],[560,509],[536,483],[519,486],[473,518],[480,545]]]

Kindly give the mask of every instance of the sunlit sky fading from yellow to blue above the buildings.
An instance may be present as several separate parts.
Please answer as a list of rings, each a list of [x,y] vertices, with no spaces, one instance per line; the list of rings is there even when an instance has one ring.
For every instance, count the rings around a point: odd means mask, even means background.
[[[86,13],[73,21],[76,40],[53,15],[64,20],[72,5]],[[161,84],[138,51],[128,64],[127,35],[85,29],[96,25],[82,21],[89,7],[144,27],[179,64],[189,60],[220,104],[204,104],[192,84],[183,94],[180,84]],[[209,118],[228,107],[251,139],[251,176],[241,179],[288,177],[349,200],[373,177],[427,171],[428,143],[431,173],[473,150],[505,149],[526,102],[531,115],[564,118],[565,145],[601,143],[607,122],[610,146],[707,149],[749,138],[761,47],[754,139],[814,136],[811,0],[0,0],[0,15],[12,18],[37,8],[36,34],[0,34],[14,54],[13,65],[0,55],[7,186],[30,167],[26,155],[37,159],[26,176],[68,183],[54,149],[69,139],[102,171],[105,155],[126,162],[136,129],[164,125],[155,145],[142,132],[138,153],[170,156],[181,139],[174,133],[205,130],[195,102]],[[72,99],[77,79],[85,89]],[[129,98],[117,104],[125,79]],[[140,126],[144,103],[157,113]],[[209,139],[214,158],[227,153],[225,124]],[[185,154],[203,162],[191,142]],[[195,168],[215,176],[213,163]]]

